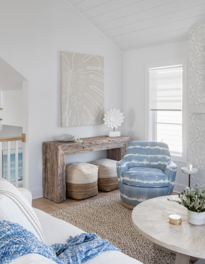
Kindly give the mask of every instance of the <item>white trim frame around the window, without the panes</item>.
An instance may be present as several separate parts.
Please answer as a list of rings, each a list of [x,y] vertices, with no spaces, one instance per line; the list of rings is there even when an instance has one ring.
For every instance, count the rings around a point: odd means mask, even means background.
[[[145,106],[145,140],[150,140],[150,110],[149,110],[149,71],[150,68],[158,68],[158,67],[169,67],[172,65],[182,65],[182,156],[178,156],[175,154],[171,154],[171,158],[173,161],[176,162],[187,162],[187,145],[188,145],[188,113],[187,113],[187,105],[188,105],[188,86],[187,86],[187,58],[186,59],[174,59],[174,60],[167,60],[167,61],[158,61],[153,63],[146,63],[145,64],[145,93],[144,93],[144,106]],[[154,112],[154,111],[152,111]]]

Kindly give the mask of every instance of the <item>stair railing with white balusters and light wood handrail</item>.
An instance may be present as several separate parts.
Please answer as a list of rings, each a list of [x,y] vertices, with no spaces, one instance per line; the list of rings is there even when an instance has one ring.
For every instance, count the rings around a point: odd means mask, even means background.
[[[21,140],[22,142],[26,142],[25,136],[26,136],[25,134],[22,134],[22,136],[19,137],[0,138],[0,177],[3,177],[2,142],[7,141],[7,181],[8,182],[11,181],[11,169],[10,169],[11,141],[15,141],[15,186],[17,188],[18,188],[18,140]],[[24,167],[23,167],[23,172],[24,172]]]

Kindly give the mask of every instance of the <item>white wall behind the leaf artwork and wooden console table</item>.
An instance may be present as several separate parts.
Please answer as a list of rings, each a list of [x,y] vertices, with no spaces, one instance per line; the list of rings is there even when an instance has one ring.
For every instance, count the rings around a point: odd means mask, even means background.
[[[0,57],[28,80],[29,189],[37,198],[42,196],[43,141],[108,131],[106,125],[61,127],[60,51],[104,56],[105,111],[121,109],[121,53],[63,0],[1,0],[0,25]],[[84,161],[95,157],[86,153]],[[72,158],[81,160],[79,154]]]

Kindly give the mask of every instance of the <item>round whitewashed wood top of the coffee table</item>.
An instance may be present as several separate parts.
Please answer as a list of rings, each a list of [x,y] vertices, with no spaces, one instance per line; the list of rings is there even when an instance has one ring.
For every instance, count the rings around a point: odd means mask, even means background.
[[[194,226],[187,220],[187,209],[176,202],[177,195],[146,200],[132,212],[132,223],[144,237],[170,250],[205,258],[205,225]],[[169,215],[179,214],[182,224],[169,224]]]

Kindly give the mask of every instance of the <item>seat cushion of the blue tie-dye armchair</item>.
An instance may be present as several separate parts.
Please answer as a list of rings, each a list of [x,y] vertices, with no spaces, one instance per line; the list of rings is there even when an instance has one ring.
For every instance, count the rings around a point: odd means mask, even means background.
[[[169,185],[169,177],[160,169],[131,167],[122,173],[122,183],[140,187],[166,187]]]

